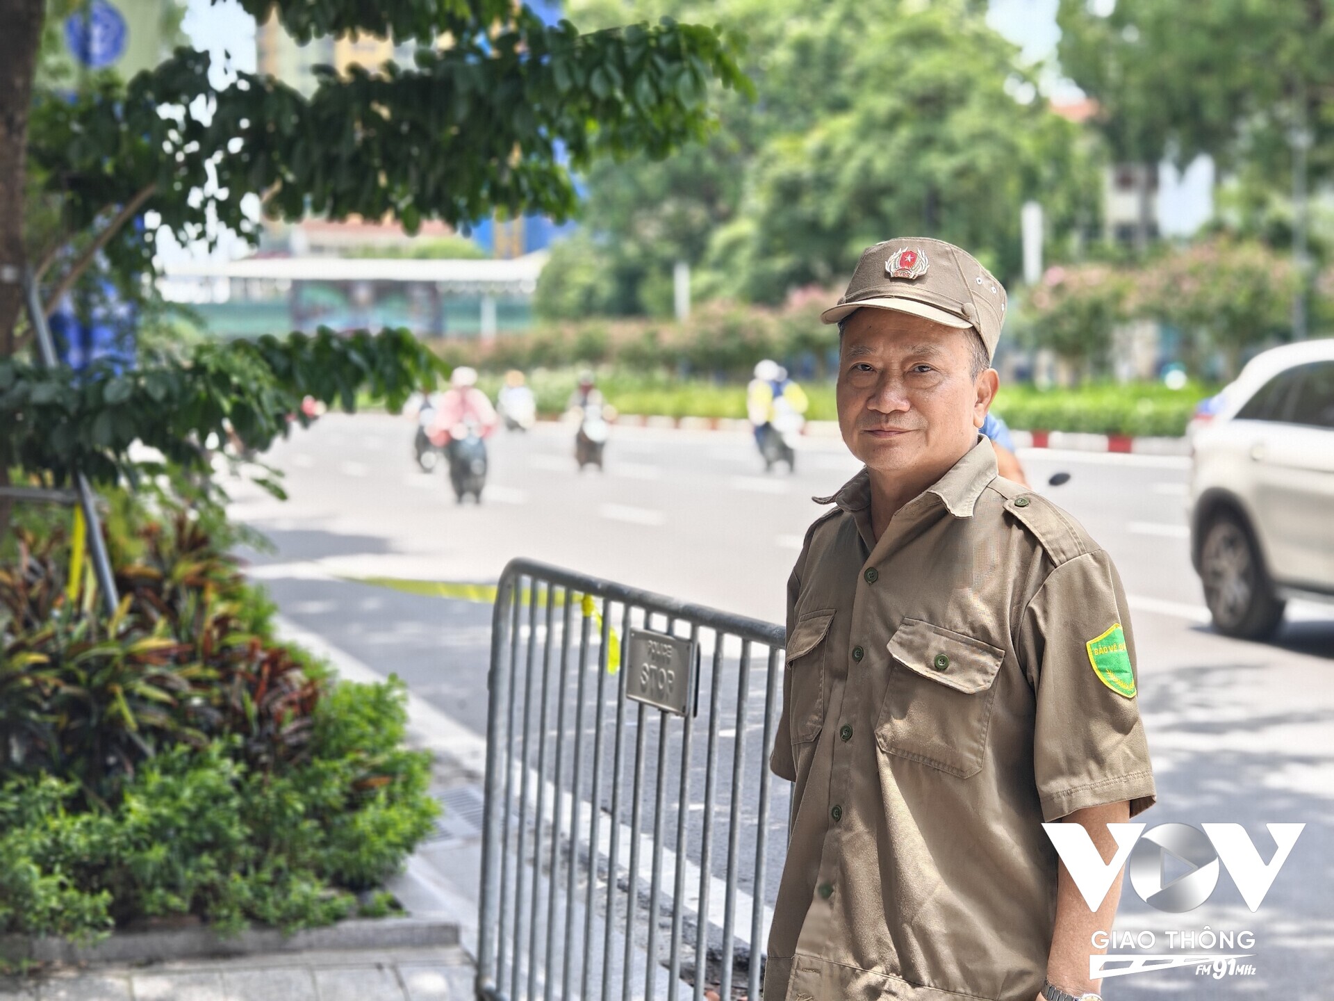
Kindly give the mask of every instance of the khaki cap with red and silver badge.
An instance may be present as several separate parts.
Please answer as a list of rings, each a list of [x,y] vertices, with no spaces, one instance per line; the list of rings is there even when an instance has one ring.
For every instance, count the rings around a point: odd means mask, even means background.
[[[994,358],[1005,304],[1005,286],[971,254],[943,240],[896,236],[862,251],[847,291],[820,314],[820,322],[838,323],[862,307],[908,312],[947,327],[971,327]]]

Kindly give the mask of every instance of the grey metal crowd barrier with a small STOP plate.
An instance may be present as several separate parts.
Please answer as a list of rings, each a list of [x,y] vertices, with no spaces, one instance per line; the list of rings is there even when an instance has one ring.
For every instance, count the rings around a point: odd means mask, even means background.
[[[775,803],[768,770],[783,643],[782,626],[526,559],[506,567],[480,998],[700,1001],[716,985],[731,1001],[742,980],[759,997],[788,815],[790,786]]]

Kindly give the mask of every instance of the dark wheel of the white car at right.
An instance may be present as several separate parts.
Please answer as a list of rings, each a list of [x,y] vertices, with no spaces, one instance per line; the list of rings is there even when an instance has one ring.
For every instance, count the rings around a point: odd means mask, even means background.
[[[1205,531],[1199,577],[1214,627],[1223,635],[1265,639],[1278,629],[1285,602],[1274,594],[1255,539],[1235,515],[1217,517]]]

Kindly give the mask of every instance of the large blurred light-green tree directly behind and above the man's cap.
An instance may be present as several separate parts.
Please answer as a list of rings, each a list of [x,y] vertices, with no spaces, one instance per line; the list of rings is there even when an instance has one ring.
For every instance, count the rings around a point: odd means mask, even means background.
[[[582,0],[571,16],[596,24],[607,8]],[[675,260],[695,268],[703,294],[774,303],[834,283],[864,244],[895,232],[964,242],[1007,276],[1026,198],[1042,198],[1058,234],[1097,202],[1078,129],[1035,100],[984,4],[710,8],[750,39],[758,100],[720,97],[724,129],[698,153],[587,175],[584,218],[608,238],[604,266],[648,290],[631,296],[638,311]],[[702,5],[671,9],[692,17]]]

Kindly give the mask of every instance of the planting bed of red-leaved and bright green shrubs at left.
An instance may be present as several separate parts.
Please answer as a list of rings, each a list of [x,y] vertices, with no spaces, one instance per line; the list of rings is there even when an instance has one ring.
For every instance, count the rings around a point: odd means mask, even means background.
[[[168,515],[113,539],[109,618],[59,530],[0,566],[0,933],[327,924],[431,830],[402,683],[335,687],[201,519]]]

